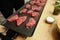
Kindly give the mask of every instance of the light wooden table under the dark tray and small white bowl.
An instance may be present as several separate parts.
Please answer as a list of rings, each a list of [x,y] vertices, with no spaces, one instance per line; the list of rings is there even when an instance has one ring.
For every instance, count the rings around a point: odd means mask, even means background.
[[[27,37],[26,40],[54,40],[55,39],[55,37],[53,37],[52,35],[53,24],[45,23],[45,18],[47,16],[53,17],[56,21],[60,19],[59,18],[60,14],[56,16],[52,14],[54,11],[54,4],[55,4],[55,0],[47,0],[46,6],[39,20],[39,23],[36,27],[34,35],[32,37]],[[20,37],[18,36],[16,40],[20,40]]]

